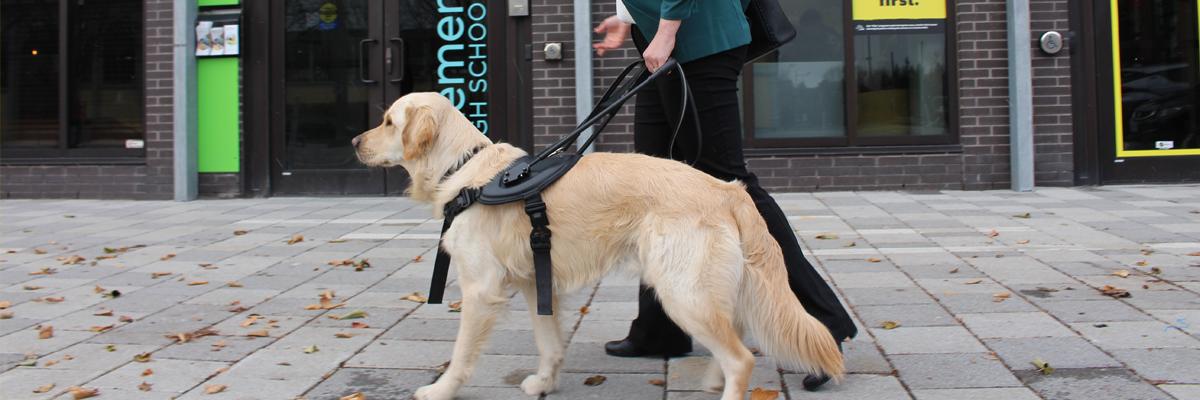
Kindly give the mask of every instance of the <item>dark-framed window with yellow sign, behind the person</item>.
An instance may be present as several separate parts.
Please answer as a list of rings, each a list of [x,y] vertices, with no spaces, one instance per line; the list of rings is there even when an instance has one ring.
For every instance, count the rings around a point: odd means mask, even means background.
[[[743,73],[749,145],[956,142],[946,1],[780,4],[797,38]]]

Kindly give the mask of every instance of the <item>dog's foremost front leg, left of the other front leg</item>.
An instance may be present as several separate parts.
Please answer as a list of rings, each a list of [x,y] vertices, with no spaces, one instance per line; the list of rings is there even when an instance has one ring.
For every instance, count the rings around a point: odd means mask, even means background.
[[[460,262],[460,257],[452,259],[456,264]],[[496,326],[496,316],[508,305],[504,279],[500,276],[504,268],[499,263],[456,267],[462,288],[462,322],[454,342],[454,356],[450,358],[450,366],[437,382],[416,390],[413,396],[418,400],[454,399],[474,371],[484,342]]]

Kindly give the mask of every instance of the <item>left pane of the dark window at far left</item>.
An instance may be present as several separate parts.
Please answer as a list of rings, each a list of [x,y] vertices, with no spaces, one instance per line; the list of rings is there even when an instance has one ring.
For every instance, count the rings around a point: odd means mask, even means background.
[[[59,1],[0,4],[0,143],[59,145]]]

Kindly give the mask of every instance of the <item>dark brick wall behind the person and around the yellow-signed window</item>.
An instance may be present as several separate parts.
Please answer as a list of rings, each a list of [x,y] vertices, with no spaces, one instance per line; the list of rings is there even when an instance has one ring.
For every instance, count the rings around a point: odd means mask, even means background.
[[[782,0],[787,1],[787,0]],[[952,0],[954,1],[954,0]],[[848,5],[847,5],[848,6]],[[1067,30],[1066,0],[1033,0],[1033,31]],[[611,0],[593,1],[593,20],[612,14]],[[778,155],[750,150],[748,163],[774,191],[1007,189],[1008,50],[1003,0],[958,0],[958,90],[961,151]],[[533,7],[535,143],[545,145],[575,126],[572,6],[535,0]],[[544,61],[546,42],[562,42],[563,61]],[[1033,46],[1033,43],[1031,43]],[[594,59],[596,96],[637,54],[631,49]],[[1070,66],[1067,52],[1033,55],[1038,185],[1072,184]],[[955,88],[950,88],[955,90]],[[631,151],[630,109],[601,138],[602,150]],[[797,151],[800,153],[800,151]],[[774,155],[767,155],[774,154]]]

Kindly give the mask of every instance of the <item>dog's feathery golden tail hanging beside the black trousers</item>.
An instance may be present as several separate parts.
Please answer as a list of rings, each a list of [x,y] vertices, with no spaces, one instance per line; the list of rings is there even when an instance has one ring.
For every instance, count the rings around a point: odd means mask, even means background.
[[[787,285],[779,244],[743,190],[734,205],[746,268],[738,293],[738,314],[763,351],[794,371],[823,372],[840,380],[841,352],[829,329],[804,311]],[[744,201],[740,201],[744,199]]]

